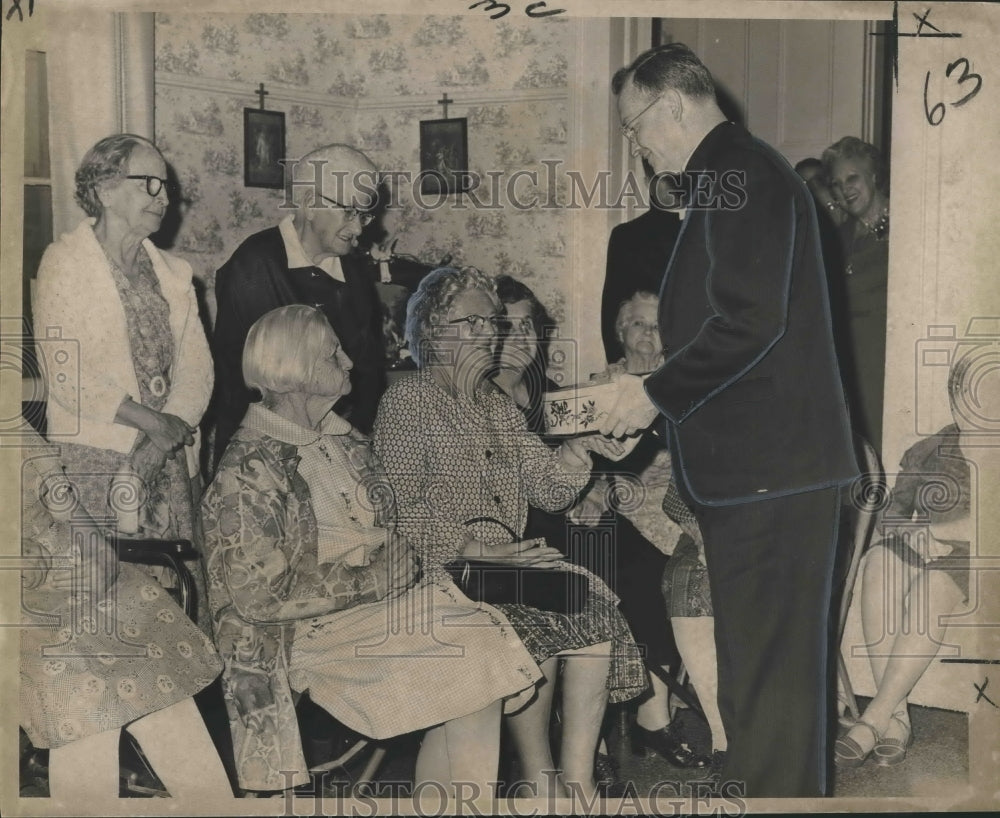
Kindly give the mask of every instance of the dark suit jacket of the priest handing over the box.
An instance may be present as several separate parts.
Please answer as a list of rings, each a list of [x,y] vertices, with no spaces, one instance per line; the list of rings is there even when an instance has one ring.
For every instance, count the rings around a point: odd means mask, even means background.
[[[646,391],[670,421],[675,473],[703,505],[847,482],[858,470],[809,191],[728,122],[687,170],[744,172],[746,201],[690,208],[667,269],[666,360]]]

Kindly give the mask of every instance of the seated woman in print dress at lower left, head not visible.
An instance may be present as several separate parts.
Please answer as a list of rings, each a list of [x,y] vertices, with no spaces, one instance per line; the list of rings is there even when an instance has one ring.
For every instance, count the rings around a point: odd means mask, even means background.
[[[56,447],[39,438],[22,451],[33,567],[22,571],[20,721],[49,748],[51,797],[63,808],[116,798],[124,727],[174,798],[231,798],[192,699],[222,669],[211,641],[156,580],[118,563]]]

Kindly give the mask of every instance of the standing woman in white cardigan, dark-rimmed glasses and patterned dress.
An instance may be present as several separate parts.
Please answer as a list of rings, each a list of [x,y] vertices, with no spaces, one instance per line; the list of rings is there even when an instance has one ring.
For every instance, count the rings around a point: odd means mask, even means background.
[[[149,240],[167,208],[166,173],[134,134],[87,152],[76,199],[89,218],[42,256],[35,334],[48,437],[83,507],[122,533],[192,539],[212,362],[191,266]],[[201,565],[189,567],[203,599]]]

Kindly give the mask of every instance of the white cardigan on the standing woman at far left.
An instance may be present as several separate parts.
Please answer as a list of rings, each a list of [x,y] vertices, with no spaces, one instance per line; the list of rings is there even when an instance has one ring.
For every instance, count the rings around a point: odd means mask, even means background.
[[[50,244],[38,268],[33,309],[48,389],[48,436],[54,442],[129,452],[138,433],[115,423],[115,415],[126,397],[139,400],[139,384],[125,310],[94,222],[86,219]],[[212,395],[213,369],[191,265],[158,250],[149,239],[143,247],[170,308],[174,340],[170,395],[163,411],[195,426]],[[197,463],[198,442],[187,447],[189,468]]]

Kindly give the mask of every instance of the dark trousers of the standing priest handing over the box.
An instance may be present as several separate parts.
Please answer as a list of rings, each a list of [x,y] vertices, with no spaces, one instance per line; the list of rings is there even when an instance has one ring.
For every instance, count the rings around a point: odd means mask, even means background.
[[[840,490],[693,508],[715,609],[723,781],[755,798],[826,795]]]

